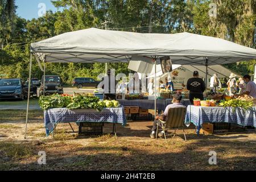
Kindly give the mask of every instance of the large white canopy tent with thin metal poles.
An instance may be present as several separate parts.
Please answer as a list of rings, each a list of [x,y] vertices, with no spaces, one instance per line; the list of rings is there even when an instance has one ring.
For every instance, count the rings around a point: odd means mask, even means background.
[[[145,57],[156,60],[162,56],[171,56],[173,64],[205,65],[207,67],[256,59],[256,49],[209,36],[187,32],[140,34],[97,28],[68,32],[32,43],[30,79],[32,54],[35,55],[38,62],[43,61],[43,63],[116,63],[129,61],[133,56],[141,57],[141,60]],[[156,61],[154,63],[156,73]],[[30,85],[28,88],[30,89]],[[29,97],[25,138],[27,136]]]

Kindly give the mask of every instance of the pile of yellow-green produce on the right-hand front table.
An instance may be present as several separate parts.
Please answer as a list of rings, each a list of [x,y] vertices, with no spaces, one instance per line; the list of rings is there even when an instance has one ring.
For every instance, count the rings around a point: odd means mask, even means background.
[[[229,101],[222,101],[219,106],[233,107],[233,110],[235,110],[236,107],[241,107],[244,110],[249,110],[253,107],[253,102],[232,99]]]

